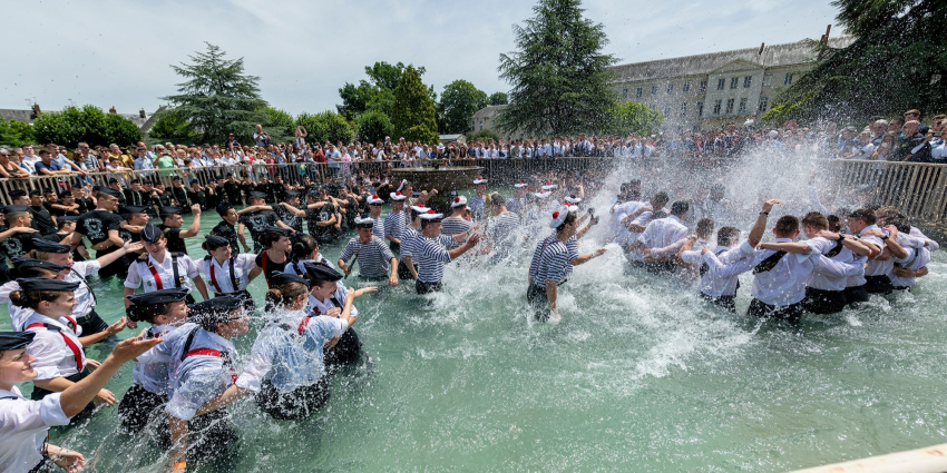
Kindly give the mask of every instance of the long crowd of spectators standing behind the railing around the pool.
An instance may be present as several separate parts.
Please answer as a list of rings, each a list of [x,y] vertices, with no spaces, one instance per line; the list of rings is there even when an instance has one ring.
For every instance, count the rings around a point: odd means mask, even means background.
[[[35,145],[0,147],[0,177],[85,176],[108,173],[120,177],[130,170],[155,170],[159,176],[198,176],[202,169],[224,169],[254,181],[270,180],[275,175],[322,177],[351,175],[354,162],[379,162],[384,167],[423,167],[463,164],[471,159],[548,159],[559,157],[654,158],[672,157],[715,164],[754,148],[769,151],[812,152],[820,158],[886,160],[907,162],[947,162],[944,129],[947,116],[937,115],[931,125],[920,120],[920,111],[908,110],[904,117],[877,118],[863,128],[839,128],[833,122],[818,127],[800,127],[794,121],[779,128],[755,127],[751,120],[742,126],[701,132],[663,132],[651,136],[629,135],[477,139],[471,142],[412,142],[404,138],[382,141],[311,144],[305,128],[297,127],[292,142],[271,141],[261,126],[253,135],[253,146],[242,145],[230,135],[223,145],[184,146],[166,142],[150,150],[139,141],[127,148],[118,145],[89,147],[80,142],[76,149],[48,144],[37,151]],[[315,165],[315,166],[312,166]]]

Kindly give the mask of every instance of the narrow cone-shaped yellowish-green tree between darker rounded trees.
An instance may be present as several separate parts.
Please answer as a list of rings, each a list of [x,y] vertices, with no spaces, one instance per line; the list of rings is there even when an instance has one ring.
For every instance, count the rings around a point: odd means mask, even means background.
[[[394,110],[391,115],[396,135],[410,141],[435,144],[438,140],[438,124],[435,104],[421,82],[421,75],[408,66],[394,90]]]

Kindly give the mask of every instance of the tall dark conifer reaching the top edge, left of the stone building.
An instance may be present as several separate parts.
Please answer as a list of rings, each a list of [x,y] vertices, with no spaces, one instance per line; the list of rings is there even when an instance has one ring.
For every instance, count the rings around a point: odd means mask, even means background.
[[[517,51],[500,55],[512,88],[498,117],[508,132],[572,135],[608,126],[616,100],[606,69],[615,58],[602,23],[583,17],[580,0],[539,0],[535,16],[514,26]]]

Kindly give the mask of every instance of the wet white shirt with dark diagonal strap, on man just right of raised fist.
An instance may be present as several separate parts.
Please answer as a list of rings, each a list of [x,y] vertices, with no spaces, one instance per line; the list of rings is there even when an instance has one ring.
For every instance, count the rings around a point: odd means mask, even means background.
[[[777,238],[777,243],[790,243],[792,238]],[[748,242],[743,242],[740,248],[753,255],[753,266],[759,265],[777,253],[774,249],[755,250]],[[788,306],[801,302],[806,297],[806,280],[812,273],[811,254],[795,255],[787,254],[768,272],[758,273],[753,277],[753,297],[763,304],[777,307]]]

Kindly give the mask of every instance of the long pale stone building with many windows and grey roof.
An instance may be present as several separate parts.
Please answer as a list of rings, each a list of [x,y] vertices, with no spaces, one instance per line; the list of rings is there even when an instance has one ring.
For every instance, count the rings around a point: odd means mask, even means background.
[[[853,38],[829,39],[843,48]],[[711,52],[612,67],[622,100],[664,114],[663,129],[699,131],[756,120],[784,87],[811,68],[816,53],[804,41]]]

